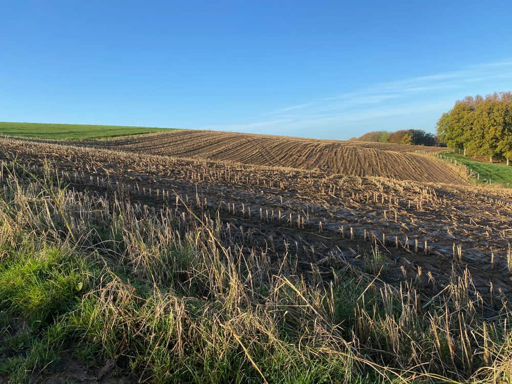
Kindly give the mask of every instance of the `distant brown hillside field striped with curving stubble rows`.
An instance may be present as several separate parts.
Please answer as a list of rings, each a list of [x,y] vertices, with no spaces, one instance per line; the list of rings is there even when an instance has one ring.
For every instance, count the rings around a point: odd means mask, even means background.
[[[216,131],[173,131],[114,140],[87,141],[81,144],[146,155],[315,169],[330,175],[463,183],[459,173],[446,164],[434,157],[413,153],[441,150],[435,147]]]

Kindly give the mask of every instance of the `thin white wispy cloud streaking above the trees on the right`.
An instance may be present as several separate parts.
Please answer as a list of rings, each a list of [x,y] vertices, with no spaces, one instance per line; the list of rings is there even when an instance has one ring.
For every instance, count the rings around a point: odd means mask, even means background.
[[[329,126],[339,127],[347,123],[417,115],[428,111],[434,111],[435,116],[437,111],[450,108],[455,101],[452,95],[461,97],[460,93],[466,92],[468,85],[473,88],[475,83],[504,80],[512,80],[512,59],[481,63],[452,72],[376,83],[369,88],[285,105],[264,112],[252,121],[225,124],[217,128],[246,132],[272,132],[272,129],[279,129],[283,132],[288,127],[291,132],[301,129],[311,132],[315,127],[325,129]]]

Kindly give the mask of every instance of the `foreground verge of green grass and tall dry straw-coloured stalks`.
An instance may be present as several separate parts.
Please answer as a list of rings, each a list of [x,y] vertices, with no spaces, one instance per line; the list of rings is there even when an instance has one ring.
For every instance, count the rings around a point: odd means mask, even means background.
[[[208,214],[2,166],[0,381],[69,379],[80,361],[95,380],[512,382],[508,307],[483,317],[467,271],[422,305],[414,278],[365,273],[386,267],[377,245],[366,271],[304,271]]]

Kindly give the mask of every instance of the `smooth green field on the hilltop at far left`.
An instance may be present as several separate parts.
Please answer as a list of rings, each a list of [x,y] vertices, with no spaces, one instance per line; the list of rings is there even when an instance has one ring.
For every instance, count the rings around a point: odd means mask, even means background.
[[[41,139],[98,139],[159,131],[170,131],[170,129],[147,126],[14,123],[0,121],[0,135]]]

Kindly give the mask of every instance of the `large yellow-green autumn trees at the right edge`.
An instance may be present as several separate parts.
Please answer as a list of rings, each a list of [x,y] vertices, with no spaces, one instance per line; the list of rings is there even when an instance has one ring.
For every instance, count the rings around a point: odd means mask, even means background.
[[[512,159],[512,93],[466,96],[437,122],[437,136],[464,156]]]

